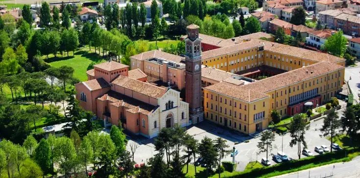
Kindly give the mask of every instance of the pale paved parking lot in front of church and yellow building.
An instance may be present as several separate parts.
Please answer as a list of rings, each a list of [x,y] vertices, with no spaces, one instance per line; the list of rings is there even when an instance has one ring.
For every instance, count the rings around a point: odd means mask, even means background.
[[[341,117],[342,112],[344,109],[338,110],[338,115]],[[323,116],[324,117],[324,116]],[[310,124],[310,130],[306,132],[305,138],[308,145],[308,149],[313,153],[314,156],[319,155],[318,153],[314,152],[315,146],[326,145],[330,149],[330,141],[327,140],[325,137],[320,137],[321,132],[319,129],[322,127],[323,119],[312,121]],[[260,137],[252,138],[250,136],[229,132],[228,130],[223,130],[215,125],[212,125],[206,121],[202,122],[201,124],[192,126],[187,128],[187,132],[192,135],[195,139],[201,141],[205,136],[216,139],[217,137],[222,137],[227,141],[229,145],[229,150],[235,147],[239,153],[236,155],[236,162],[238,164],[237,171],[243,171],[247,163],[250,160],[255,161],[258,160],[261,162],[262,157],[266,157],[266,153],[261,153],[257,155],[259,149],[257,147]],[[249,140],[248,143],[244,141]],[[273,143],[274,147],[271,152],[268,154],[268,159],[270,160],[271,165],[276,164],[274,160],[271,160],[272,155],[276,154],[277,152],[281,152],[283,150],[289,157],[289,159],[298,159],[297,155],[297,146],[293,148],[290,147],[289,142],[291,137],[289,134],[285,134],[284,136],[280,136],[279,134],[275,134],[275,141]],[[139,142],[140,140],[136,140]],[[152,157],[157,152],[155,151],[153,145],[153,139],[146,139],[142,140],[135,153],[134,160],[137,163],[146,162],[146,160]],[[130,151],[130,144],[133,140],[129,140],[127,145],[127,149]],[[240,144],[234,145],[235,142],[239,142]],[[301,146],[303,149],[303,146]],[[184,153],[183,153],[184,154]],[[306,157],[301,155],[301,157]],[[222,161],[232,161],[232,157],[230,155],[225,156]]]

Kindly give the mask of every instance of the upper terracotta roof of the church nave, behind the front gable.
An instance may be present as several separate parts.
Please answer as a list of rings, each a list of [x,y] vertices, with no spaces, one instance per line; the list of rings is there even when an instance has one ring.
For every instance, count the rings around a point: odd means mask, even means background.
[[[144,94],[152,98],[160,98],[166,92],[166,89],[162,89],[160,87],[153,86],[149,83],[141,82],[139,80],[135,80],[123,75],[120,75],[111,83],[123,87],[125,89],[130,89],[135,92]]]

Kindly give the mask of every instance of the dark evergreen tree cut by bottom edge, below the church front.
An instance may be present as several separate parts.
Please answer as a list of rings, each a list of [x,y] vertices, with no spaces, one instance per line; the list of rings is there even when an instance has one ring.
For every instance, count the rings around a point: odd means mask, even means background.
[[[163,160],[162,154],[156,154],[149,159],[149,165],[151,165],[151,178],[166,178],[167,166]]]

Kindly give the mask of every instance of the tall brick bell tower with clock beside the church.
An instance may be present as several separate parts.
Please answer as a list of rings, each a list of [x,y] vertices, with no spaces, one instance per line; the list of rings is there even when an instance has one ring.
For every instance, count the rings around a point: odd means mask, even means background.
[[[199,26],[191,24],[186,30],[188,35],[185,39],[186,102],[189,103],[189,120],[195,124],[204,119],[204,111],[201,107],[201,39]]]

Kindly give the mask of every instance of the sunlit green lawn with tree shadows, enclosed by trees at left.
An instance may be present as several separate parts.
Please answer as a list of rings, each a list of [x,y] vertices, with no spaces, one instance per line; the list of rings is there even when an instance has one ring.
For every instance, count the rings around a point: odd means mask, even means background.
[[[86,69],[89,64],[101,60],[102,58],[95,52],[90,52],[85,50],[75,51],[73,56],[72,52],[69,52],[69,57],[61,57],[58,55],[57,58],[51,57],[48,60],[45,60],[52,67],[61,67],[61,66],[70,66],[74,68],[74,77],[78,78],[80,81],[86,81]]]

